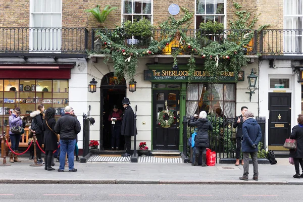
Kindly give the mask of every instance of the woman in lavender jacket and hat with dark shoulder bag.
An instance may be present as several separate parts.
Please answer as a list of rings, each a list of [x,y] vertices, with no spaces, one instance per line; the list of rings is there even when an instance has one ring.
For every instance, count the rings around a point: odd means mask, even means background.
[[[11,132],[12,127],[16,127],[16,126],[20,126],[22,127],[22,119],[24,118],[23,116],[20,117],[21,114],[21,110],[20,108],[16,107],[13,110],[12,115],[9,117],[9,125],[10,125],[10,139],[11,139],[11,148],[13,151],[15,151],[15,153],[18,153],[18,148],[19,148],[19,143],[20,143],[20,137],[21,135],[19,134],[15,134]],[[10,162],[14,163],[14,162],[21,162],[18,159],[18,156],[13,154],[10,151]]]

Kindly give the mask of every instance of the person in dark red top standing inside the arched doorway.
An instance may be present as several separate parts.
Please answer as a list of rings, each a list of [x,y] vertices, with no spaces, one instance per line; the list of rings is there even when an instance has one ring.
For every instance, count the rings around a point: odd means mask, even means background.
[[[117,105],[113,106],[113,111],[110,113],[108,120],[112,123],[112,150],[119,150],[122,110],[119,110]]]

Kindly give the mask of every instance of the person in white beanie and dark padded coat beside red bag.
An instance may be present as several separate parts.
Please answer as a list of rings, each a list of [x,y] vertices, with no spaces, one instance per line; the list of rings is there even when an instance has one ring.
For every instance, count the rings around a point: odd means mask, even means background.
[[[206,112],[201,111],[199,116],[194,114],[188,123],[189,126],[197,128],[197,134],[194,137],[195,157],[192,166],[198,166],[200,154],[202,154],[202,166],[206,166],[206,148],[210,144],[208,131],[214,130],[211,122],[206,117]]]

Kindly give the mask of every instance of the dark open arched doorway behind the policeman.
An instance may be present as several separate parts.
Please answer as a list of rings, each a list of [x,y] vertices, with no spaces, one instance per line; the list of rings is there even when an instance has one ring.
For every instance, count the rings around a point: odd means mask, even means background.
[[[123,78],[120,82],[117,82],[114,72],[106,74],[100,85],[100,114],[103,114],[100,120],[100,149],[111,149],[111,124],[108,120],[110,113],[113,110],[113,106],[117,105],[119,109],[124,110],[122,106],[122,99],[126,97],[126,81]],[[120,149],[124,149],[124,138],[120,138]]]

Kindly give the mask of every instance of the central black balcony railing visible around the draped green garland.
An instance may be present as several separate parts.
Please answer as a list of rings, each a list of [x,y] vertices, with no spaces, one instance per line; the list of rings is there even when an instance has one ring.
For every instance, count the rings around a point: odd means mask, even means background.
[[[148,37],[132,36],[128,35],[124,29],[92,29],[92,44],[91,49],[95,49],[94,40],[95,34],[102,32],[112,41],[125,46],[135,46],[138,48],[147,48],[151,40],[161,41],[167,39],[168,37],[173,37],[174,39],[169,42],[169,44],[162,49],[162,54],[170,54],[174,49],[181,48],[181,53],[186,53],[186,48],[184,44],[184,38],[195,39],[195,41],[204,47],[208,45],[211,41],[217,41],[223,43],[225,39],[233,41],[237,44],[240,43],[240,40],[243,36],[249,32],[254,33],[254,37],[251,39],[249,44],[245,44],[243,50],[247,55],[254,55],[257,53],[257,30],[219,30],[215,33],[207,32],[200,29],[181,29],[181,30],[164,30],[164,29],[153,29],[151,34]],[[171,36],[173,33],[173,36]]]

